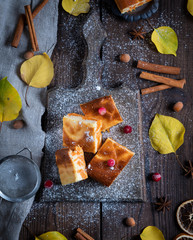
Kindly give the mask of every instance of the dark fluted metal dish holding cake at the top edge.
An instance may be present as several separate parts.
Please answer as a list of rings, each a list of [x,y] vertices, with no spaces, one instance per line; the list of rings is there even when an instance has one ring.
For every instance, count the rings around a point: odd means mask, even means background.
[[[112,12],[115,15],[124,18],[128,22],[136,22],[140,19],[147,19],[151,17],[159,7],[159,0],[152,0],[140,7],[137,7],[132,12],[122,14],[114,0],[105,0],[105,2],[111,7]]]

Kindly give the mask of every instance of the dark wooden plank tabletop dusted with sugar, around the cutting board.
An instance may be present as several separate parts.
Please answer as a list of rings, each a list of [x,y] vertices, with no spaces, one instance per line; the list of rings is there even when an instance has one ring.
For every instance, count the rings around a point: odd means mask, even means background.
[[[115,17],[104,5],[103,1],[91,1],[92,11],[99,11],[108,37],[101,51],[104,61],[102,82],[106,87],[116,87],[122,82],[134,89],[142,89],[154,85],[139,79],[138,69],[134,67],[138,59],[149,62],[179,66],[182,68],[180,76],[171,76],[177,79],[186,78],[187,84],[183,90],[170,89],[163,92],[142,96],[143,111],[143,143],[145,157],[145,174],[147,187],[147,202],[145,203],[80,203],[80,202],[34,202],[31,212],[24,225],[34,235],[46,231],[56,230],[63,233],[68,239],[73,239],[74,230],[82,228],[94,239],[121,240],[131,239],[140,234],[140,231],[154,225],[162,230],[165,239],[173,239],[182,232],[176,222],[176,209],[180,203],[193,197],[193,180],[185,177],[185,172],[179,167],[174,154],[158,154],[150,146],[148,130],[156,113],[169,115],[179,119],[186,128],[185,143],[177,154],[183,164],[192,160],[193,151],[193,17],[186,10],[186,1],[160,1],[156,14],[149,20],[157,28],[160,26],[172,27],[178,35],[179,47],[177,57],[162,55],[157,52],[150,41],[151,27],[145,20],[136,23],[127,23]],[[52,86],[75,87],[80,84],[83,69],[85,45],[82,36],[82,26],[87,15],[79,17],[69,16],[59,6],[58,43],[52,59],[55,65],[55,78]],[[145,40],[133,41],[129,35],[132,29],[144,26],[148,32]],[[117,61],[121,53],[129,53],[132,61],[128,64]],[[167,75],[165,75],[167,76]],[[172,105],[182,101],[184,108],[179,113],[172,111]],[[152,172],[159,172],[162,180],[152,182],[148,176]],[[172,200],[170,211],[165,214],[155,210],[154,203],[161,196]],[[124,218],[132,216],[136,226],[128,228],[123,224]],[[34,239],[22,227],[21,240]],[[134,239],[134,238],[132,238]]]

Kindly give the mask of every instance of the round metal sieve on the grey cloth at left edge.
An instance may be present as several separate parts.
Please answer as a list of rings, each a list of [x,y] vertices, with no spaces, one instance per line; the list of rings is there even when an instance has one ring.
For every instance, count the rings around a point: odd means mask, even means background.
[[[31,159],[18,155],[23,150],[30,152]],[[25,201],[40,187],[39,167],[32,160],[31,151],[23,150],[0,160],[0,197],[10,202]]]

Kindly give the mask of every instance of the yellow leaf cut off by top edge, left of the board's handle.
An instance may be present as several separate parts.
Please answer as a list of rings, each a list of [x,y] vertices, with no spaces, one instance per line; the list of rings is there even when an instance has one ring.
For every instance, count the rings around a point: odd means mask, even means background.
[[[64,10],[74,16],[81,13],[88,13],[90,10],[90,0],[63,0],[62,7]]]

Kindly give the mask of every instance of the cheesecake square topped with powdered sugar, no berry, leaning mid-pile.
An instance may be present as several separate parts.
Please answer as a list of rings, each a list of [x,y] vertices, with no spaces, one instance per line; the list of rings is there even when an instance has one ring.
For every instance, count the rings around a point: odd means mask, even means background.
[[[102,143],[101,127],[100,120],[70,113],[63,117],[63,146],[96,153]]]

